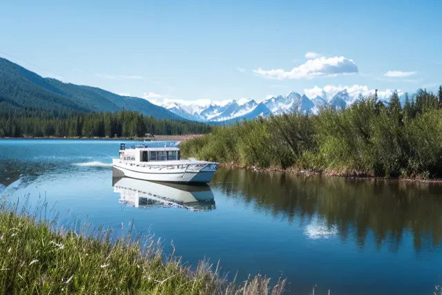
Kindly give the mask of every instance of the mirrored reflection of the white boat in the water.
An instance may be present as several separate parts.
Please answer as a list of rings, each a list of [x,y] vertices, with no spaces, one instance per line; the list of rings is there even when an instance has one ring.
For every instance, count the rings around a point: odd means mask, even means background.
[[[121,195],[119,203],[132,207],[160,205],[191,211],[215,209],[215,198],[207,184],[196,186],[113,177],[112,186],[115,193]]]

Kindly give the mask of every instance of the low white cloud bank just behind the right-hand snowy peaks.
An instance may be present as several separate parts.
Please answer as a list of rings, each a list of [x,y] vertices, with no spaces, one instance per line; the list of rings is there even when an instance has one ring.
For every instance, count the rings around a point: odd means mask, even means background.
[[[324,99],[330,100],[336,95],[336,93],[347,89],[347,93],[350,97],[358,97],[359,94],[363,95],[363,97],[367,97],[369,95],[374,95],[374,89],[368,88],[368,86],[364,85],[353,85],[353,86],[341,86],[341,85],[326,85],[323,88],[318,86],[314,86],[314,88],[305,88],[304,93],[309,98],[314,98],[316,96],[323,97]],[[378,90],[378,98],[379,99],[387,99],[392,96],[393,92],[396,89],[385,89]],[[401,89],[397,89],[398,95],[403,95],[403,91]]]

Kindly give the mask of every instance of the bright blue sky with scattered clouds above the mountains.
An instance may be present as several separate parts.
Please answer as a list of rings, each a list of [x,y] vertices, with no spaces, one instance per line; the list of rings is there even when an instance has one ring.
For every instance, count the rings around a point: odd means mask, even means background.
[[[440,0],[3,0],[0,27],[1,57],[152,99],[442,84]]]

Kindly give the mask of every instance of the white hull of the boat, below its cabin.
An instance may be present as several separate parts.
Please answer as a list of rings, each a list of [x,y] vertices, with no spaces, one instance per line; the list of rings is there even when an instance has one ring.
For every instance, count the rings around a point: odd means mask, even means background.
[[[164,171],[164,172],[148,172],[137,169],[137,167],[124,166],[113,164],[113,169],[116,169],[119,175],[124,175],[128,178],[135,178],[140,180],[159,181],[159,182],[176,182],[176,183],[209,183],[215,171]]]

